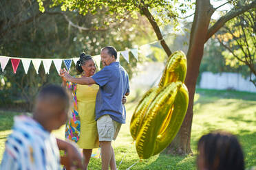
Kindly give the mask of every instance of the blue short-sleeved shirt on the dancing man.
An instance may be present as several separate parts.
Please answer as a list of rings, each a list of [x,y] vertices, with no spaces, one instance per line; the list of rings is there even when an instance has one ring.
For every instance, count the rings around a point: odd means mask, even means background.
[[[105,114],[119,123],[125,123],[122,96],[129,92],[129,77],[119,62],[112,62],[92,76],[100,86],[96,97],[96,120]]]

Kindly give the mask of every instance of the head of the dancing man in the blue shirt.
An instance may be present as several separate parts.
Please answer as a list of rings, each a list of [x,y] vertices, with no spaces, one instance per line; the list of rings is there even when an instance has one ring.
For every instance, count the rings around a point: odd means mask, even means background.
[[[111,46],[103,47],[100,52],[100,57],[103,66],[108,66],[112,62],[116,62],[117,51],[114,47]]]

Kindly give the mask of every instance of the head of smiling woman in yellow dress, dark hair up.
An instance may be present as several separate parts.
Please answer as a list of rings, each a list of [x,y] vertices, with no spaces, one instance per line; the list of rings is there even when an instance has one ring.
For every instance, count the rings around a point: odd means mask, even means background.
[[[76,70],[86,77],[94,75],[96,66],[92,56],[81,53],[79,60],[76,62]]]

